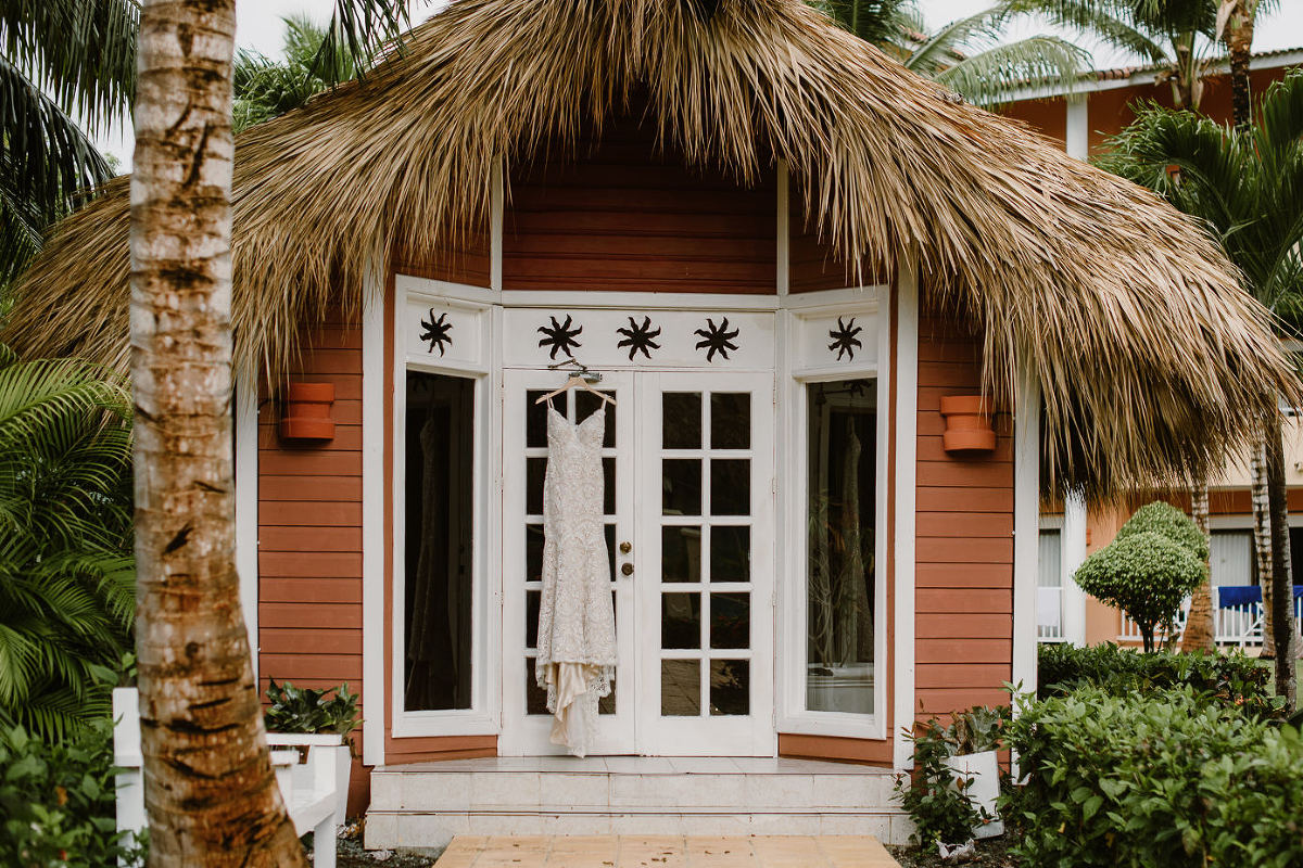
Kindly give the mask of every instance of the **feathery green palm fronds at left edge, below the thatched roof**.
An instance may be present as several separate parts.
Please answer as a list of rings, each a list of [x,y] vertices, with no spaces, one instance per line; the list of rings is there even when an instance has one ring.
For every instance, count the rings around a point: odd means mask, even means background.
[[[109,711],[132,647],[126,384],[0,346],[0,721],[46,739]]]

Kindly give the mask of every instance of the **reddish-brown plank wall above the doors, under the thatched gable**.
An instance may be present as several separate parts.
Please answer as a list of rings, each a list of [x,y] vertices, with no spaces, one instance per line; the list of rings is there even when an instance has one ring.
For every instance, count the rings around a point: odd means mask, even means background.
[[[777,292],[773,169],[744,189],[628,121],[558,151],[511,172],[503,289]]]

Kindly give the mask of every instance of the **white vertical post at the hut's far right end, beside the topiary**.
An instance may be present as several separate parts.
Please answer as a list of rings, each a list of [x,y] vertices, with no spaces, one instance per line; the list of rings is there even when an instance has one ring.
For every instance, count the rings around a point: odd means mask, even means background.
[[[1036,690],[1036,579],[1040,558],[1040,383],[1024,366],[1014,405],[1014,670]]]

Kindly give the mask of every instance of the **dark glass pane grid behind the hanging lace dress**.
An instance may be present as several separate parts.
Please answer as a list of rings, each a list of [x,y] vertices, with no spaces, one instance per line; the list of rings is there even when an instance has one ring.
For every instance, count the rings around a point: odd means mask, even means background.
[[[534,674],[534,661],[538,658],[538,609],[542,601],[542,557],[543,557],[543,480],[547,470],[547,405],[551,403],[571,424],[584,422],[589,414],[601,411],[601,400],[584,392],[563,392],[550,402],[534,403],[551,389],[529,389],[525,392],[525,713],[530,716],[547,714],[547,692],[538,686]],[[602,394],[615,397],[609,389]],[[571,397],[573,396],[573,401]],[[615,470],[616,470],[616,416],[618,405],[606,409],[606,432],[602,437],[602,472],[605,478],[603,517],[606,536],[606,556],[611,569],[611,601],[618,605],[615,573]],[[616,618],[619,625],[619,618]],[[598,701],[598,713],[614,714],[616,711],[616,682],[619,666],[611,678],[611,694]]]

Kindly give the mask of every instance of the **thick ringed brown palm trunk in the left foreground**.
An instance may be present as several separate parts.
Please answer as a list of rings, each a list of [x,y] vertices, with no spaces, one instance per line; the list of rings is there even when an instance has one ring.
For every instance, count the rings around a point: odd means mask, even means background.
[[[147,0],[132,176],[136,640],[151,865],[305,865],[237,605],[233,0]]]

